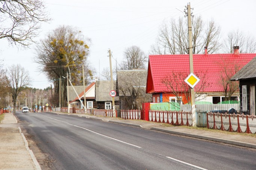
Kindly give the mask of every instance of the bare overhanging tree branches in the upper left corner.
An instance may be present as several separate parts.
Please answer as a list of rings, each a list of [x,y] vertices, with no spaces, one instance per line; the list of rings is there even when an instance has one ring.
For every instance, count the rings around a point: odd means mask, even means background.
[[[49,21],[41,0],[0,0],[0,39],[23,47],[32,44],[40,22]]]

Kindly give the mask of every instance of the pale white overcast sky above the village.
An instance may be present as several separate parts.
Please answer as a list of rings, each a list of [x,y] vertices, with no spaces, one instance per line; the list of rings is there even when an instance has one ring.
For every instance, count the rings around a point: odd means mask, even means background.
[[[104,67],[109,68],[109,49],[113,66],[121,63],[125,48],[132,45],[150,54],[159,27],[165,20],[184,17],[182,11],[188,3],[194,16],[201,15],[203,21],[213,19],[220,25],[222,37],[237,29],[256,37],[255,0],[45,0],[44,3],[52,21],[42,23],[35,41],[44,40],[60,25],[77,28],[91,39],[88,60],[95,76],[99,76]],[[0,60],[4,68],[21,64],[29,72],[31,87],[44,89],[51,82],[33,62],[35,47],[36,44],[26,49],[17,48],[0,39]]]

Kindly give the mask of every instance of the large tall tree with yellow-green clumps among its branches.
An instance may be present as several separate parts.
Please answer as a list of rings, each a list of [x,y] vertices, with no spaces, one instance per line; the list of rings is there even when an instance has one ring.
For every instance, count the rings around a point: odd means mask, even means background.
[[[54,99],[58,99],[61,89],[61,106],[64,106],[67,98],[67,72],[73,85],[81,85],[82,64],[85,64],[87,83],[93,78],[93,72],[86,60],[89,54],[88,43],[89,40],[83,37],[81,31],[71,26],[60,26],[37,45],[35,62],[42,66],[42,71],[46,73],[49,81],[54,83]]]

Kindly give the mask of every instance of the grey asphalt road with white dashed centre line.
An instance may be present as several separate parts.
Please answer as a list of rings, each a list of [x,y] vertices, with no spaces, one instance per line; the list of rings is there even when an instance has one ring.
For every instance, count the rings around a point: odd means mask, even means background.
[[[253,149],[54,113],[18,111],[16,116],[57,170],[256,168]]]

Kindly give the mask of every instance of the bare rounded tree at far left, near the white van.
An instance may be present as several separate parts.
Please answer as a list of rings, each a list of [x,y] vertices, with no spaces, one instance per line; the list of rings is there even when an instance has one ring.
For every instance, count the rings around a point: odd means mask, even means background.
[[[13,99],[13,113],[16,112],[16,99],[21,91],[30,85],[28,72],[20,64],[12,65],[7,70],[7,79]]]

